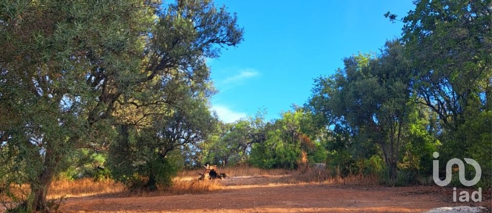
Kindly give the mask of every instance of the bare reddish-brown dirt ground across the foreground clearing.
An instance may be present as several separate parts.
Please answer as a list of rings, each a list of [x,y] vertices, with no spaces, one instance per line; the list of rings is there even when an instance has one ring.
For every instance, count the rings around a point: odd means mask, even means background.
[[[440,187],[284,184],[284,176],[217,180],[223,189],[199,195],[69,198],[61,212],[423,212],[452,203]],[[488,202],[488,204],[487,204]],[[468,204],[473,205],[473,204]],[[481,205],[490,205],[485,200]],[[488,206],[487,206],[488,207]],[[490,207],[489,207],[490,208]]]

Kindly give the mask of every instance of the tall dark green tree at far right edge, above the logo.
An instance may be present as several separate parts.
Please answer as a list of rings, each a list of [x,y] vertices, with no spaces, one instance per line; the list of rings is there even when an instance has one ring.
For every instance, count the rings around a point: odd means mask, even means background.
[[[480,184],[488,187],[491,18],[490,1],[417,1],[403,18],[402,37],[416,71],[414,93],[438,114],[441,170],[449,159],[473,158],[482,167]]]

